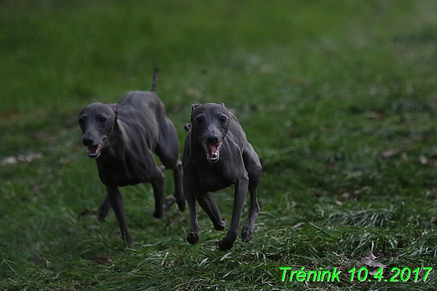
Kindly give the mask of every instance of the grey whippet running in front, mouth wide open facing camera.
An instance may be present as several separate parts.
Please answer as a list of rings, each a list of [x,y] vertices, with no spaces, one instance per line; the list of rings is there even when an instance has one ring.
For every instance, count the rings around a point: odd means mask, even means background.
[[[182,185],[191,218],[187,241],[194,245],[200,237],[196,200],[211,219],[214,228],[225,229],[226,220],[220,216],[219,208],[208,192],[234,184],[231,226],[226,237],[219,242],[220,250],[229,250],[237,239],[241,211],[248,190],[249,216],[243,226],[241,239],[249,242],[253,237],[259,212],[256,188],[261,177],[261,163],[237,118],[224,104],[195,104],[192,106],[190,121],[191,124],[185,126],[188,135],[182,159]]]

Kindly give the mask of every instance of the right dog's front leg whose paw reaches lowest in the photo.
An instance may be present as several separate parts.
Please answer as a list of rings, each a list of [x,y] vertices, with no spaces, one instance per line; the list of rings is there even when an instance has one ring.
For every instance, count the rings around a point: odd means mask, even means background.
[[[231,226],[229,227],[226,237],[219,242],[219,249],[227,251],[232,249],[237,239],[238,226],[240,225],[241,210],[243,209],[244,200],[247,196],[249,178],[245,175],[238,184],[235,185],[234,208],[232,209]]]

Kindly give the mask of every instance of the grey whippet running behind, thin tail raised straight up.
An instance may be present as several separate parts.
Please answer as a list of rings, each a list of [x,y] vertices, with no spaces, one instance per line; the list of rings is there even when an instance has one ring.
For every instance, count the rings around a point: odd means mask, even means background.
[[[106,198],[98,210],[104,221],[110,207],[120,225],[122,239],[133,240],[128,232],[119,187],[151,183],[155,197],[153,216],[161,218],[176,201],[185,209],[182,193],[179,142],[162,101],[155,94],[157,68],[152,91],[132,91],[117,104],[92,103],[79,114],[79,126],[88,156],[96,158],[98,175],[106,186]],[[162,162],[157,166],[152,153]],[[164,170],[173,169],[175,197],[164,196]]]

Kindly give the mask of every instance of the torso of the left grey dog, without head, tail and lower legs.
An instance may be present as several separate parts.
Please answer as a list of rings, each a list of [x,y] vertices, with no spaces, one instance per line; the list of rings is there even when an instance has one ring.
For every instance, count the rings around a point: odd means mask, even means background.
[[[167,151],[160,154],[162,163],[166,168],[176,168],[179,146],[170,146],[175,142],[178,145],[176,131],[157,96],[132,91],[116,107],[117,122],[96,159],[102,183],[127,186],[160,177],[162,173],[152,155],[155,151]]]

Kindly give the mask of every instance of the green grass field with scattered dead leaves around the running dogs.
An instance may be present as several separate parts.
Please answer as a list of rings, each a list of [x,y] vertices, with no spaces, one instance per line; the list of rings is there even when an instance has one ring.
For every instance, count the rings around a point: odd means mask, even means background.
[[[434,270],[384,281],[436,267],[433,1],[7,0],[0,64],[0,160],[42,155],[0,166],[0,290],[437,288]],[[153,218],[150,185],[122,189],[134,246],[112,212],[97,222],[104,187],[77,114],[149,90],[156,65],[181,146],[191,104],[224,102],[257,151],[251,242],[219,251],[225,233],[199,209],[189,245],[188,211]],[[233,189],[214,197],[229,219]],[[376,269],[370,253],[384,279],[351,282],[351,268]],[[342,273],[282,282],[280,267]]]

